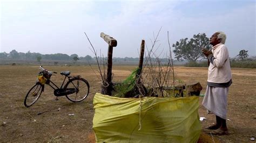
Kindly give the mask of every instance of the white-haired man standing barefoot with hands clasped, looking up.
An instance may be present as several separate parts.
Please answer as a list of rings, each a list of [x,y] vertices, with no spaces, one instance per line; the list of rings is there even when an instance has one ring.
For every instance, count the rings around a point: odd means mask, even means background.
[[[230,60],[227,47],[224,45],[226,34],[215,32],[210,38],[211,50],[202,48],[202,52],[208,59],[208,79],[203,105],[208,113],[216,115],[216,123],[208,126],[212,134],[227,134],[227,94],[228,87],[232,84]]]

